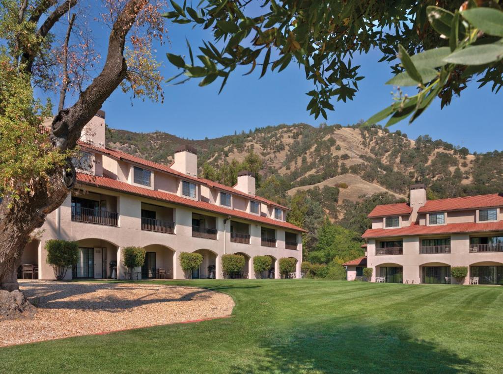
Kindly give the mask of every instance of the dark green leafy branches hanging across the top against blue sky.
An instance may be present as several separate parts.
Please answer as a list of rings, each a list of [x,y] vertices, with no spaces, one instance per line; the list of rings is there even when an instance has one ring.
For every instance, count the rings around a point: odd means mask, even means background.
[[[250,3],[206,0],[191,8],[172,1],[174,10],[166,13],[166,18],[209,29],[213,34],[213,40],[204,41],[198,54],[190,45],[187,56],[167,54],[169,61],[182,69],[173,79],[180,77],[178,82],[183,82],[202,78],[201,86],[219,79],[221,90],[238,66],[248,66],[246,74],[258,70],[262,77],[295,63],[313,84],[307,92],[310,100],[306,109],[315,118],[321,115],[325,119],[326,110],[333,110],[335,101],[352,100],[358,91],[358,82],[364,77],[353,61],[355,54],[378,50],[382,54],[380,61],[391,62],[391,70],[400,73],[403,67],[396,60],[398,45],[409,55],[438,46],[449,47],[449,40],[430,23],[428,6],[435,5],[452,14],[461,6],[469,6],[462,0]],[[458,35],[461,40],[465,34]],[[453,93],[459,95],[467,78],[475,73],[472,70],[465,77],[445,77],[442,90],[437,92],[442,106],[450,103]],[[485,70],[484,79],[498,82],[501,72]]]

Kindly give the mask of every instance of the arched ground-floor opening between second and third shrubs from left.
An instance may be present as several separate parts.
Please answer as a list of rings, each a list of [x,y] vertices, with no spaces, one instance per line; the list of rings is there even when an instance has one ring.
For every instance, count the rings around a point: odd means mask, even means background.
[[[175,251],[161,244],[144,247],[145,262],[141,267],[141,278],[173,278]]]

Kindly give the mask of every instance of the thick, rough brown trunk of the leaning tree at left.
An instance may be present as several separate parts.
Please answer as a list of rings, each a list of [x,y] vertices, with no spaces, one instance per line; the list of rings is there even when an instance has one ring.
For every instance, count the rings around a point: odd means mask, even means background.
[[[44,7],[54,5],[54,0],[45,0]],[[59,6],[43,23],[37,35],[47,35],[49,30],[76,1],[67,0]],[[101,73],[83,91],[77,102],[70,108],[59,111],[52,122],[50,140],[60,151],[75,147],[82,128],[93,118],[105,100],[126,76],[124,59],[126,35],[136,16],[148,4],[147,0],[130,0],[117,17],[110,32],[108,53]],[[44,9],[40,11],[42,14]],[[36,12],[35,12],[36,13]],[[38,13],[37,13],[38,15]],[[25,50],[23,59],[27,69],[31,69],[36,56]],[[28,70],[28,72],[30,72]],[[69,173],[67,172],[69,171]],[[52,170],[48,179],[40,179],[29,193],[21,194],[18,200],[5,196],[0,203],[0,289],[18,290],[17,268],[24,247],[33,230],[41,227],[46,216],[58,208],[68,196],[75,181],[72,166]]]

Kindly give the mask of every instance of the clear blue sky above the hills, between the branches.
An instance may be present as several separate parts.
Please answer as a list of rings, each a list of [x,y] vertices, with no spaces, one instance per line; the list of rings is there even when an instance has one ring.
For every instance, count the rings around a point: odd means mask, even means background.
[[[157,57],[163,62],[162,74],[168,78],[177,73],[177,68],[167,62],[166,52],[188,54],[185,38],[196,53],[201,40],[211,35],[192,26],[167,24],[170,43],[157,47]],[[103,45],[108,39],[103,30]],[[381,55],[371,52],[356,56],[355,64],[362,65],[365,79],[359,82],[356,99],[347,103],[335,103],[336,110],[328,112],[329,125],[354,124],[367,119],[375,112],[391,104],[392,86],[384,85],[390,77],[386,63],[378,63]],[[247,69],[246,69],[247,70]],[[206,87],[197,85],[198,79],[182,85],[165,85],[164,104],[131,100],[117,89],[106,101],[107,124],[113,128],[136,132],[164,131],[190,139],[218,137],[248,131],[255,127],[304,122],[313,126],[325,120],[308,115],[305,108],[309,98],[305,92],[312,89],[305,80],[303,70],[293,63],[281,73],[270,73],[258,79],[260,69],[248,76],[245,70],[236,70],[227,81],[220,95],[217,80]],[[472,84],[455,97],[449,107],[440,110],[436,102],[412,125],[394,125],[391,131],[401,130],[409,138],[429,134],[434,139],[467,147],[471,152],[501,150],[503,137],[501,95],[491,93],[489,87],[477,89]]]

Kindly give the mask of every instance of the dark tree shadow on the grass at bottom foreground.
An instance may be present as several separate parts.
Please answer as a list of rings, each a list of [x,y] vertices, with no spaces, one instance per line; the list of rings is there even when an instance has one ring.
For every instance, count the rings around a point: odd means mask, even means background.
[[[334,324],[337,322],[334,321]],[[262,356],[249,357],[231,372],[442,372],[476,373],[476,363],[434,342],[416,339],[384,324],[306,325],[267,337]]]

